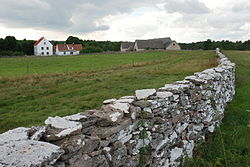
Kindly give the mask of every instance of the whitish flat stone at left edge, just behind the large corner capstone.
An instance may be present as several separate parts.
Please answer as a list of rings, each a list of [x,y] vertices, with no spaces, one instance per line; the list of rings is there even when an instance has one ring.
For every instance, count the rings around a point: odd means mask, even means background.
[[[0,145],[7,143],[9,141],[18,141],[18,140],[26,140],[28,139],[28,131],[29,128],[16,128],[13,130],[9,130],[5,133],[0,134]]]

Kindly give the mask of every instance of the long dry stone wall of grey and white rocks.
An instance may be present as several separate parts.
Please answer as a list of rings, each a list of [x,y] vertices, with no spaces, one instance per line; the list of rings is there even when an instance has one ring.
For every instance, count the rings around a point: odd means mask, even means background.
[[[0,167],[176,167],[214,132],[235,93],[235,64],[219,65],[99,110],[49,117],[0,134]]]

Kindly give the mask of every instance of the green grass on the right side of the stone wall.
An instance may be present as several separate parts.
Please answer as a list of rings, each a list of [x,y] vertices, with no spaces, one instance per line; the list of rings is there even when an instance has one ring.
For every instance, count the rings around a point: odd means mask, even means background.
[[[225,51],[236,63],[236,94],[225,118],[185,167],[250,167],[250,51]]]

